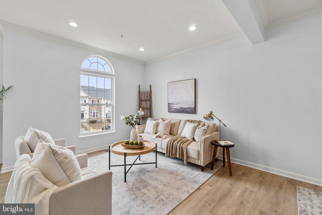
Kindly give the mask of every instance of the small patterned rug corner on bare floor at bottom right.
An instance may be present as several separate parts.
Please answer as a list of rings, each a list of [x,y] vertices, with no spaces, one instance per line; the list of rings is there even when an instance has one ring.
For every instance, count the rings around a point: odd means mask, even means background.
[[[322,192],[297,186],[298,215],[322,214]]]

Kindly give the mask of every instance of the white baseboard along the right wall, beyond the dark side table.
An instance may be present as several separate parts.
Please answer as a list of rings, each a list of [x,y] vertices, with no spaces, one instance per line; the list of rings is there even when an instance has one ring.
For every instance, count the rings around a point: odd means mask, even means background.
[[[222,159],[222,156],[220,155],[218,158]],[[322,186],[322,180],[318,179],[318,178],[312,178],[312,177],[308,177],[305,175],[300,175],[297,173],[293,173],[293,172],[288,172],[285,170],[280,170],[280,169],[276,169],[276,168],[272,168],[272,167],[267,167],[267,166],[263,166],[260,164],[255,164],[252,162],[248,162],[248,161],[242,161],[242,160],[238,160],[238,159],[234,159],[234,158],[230,158],[230,162],[231,163],[235,163],[235,164],[239,164],[242,166],[246,166],[246,167],[251,167],[254,169],[258,169],[258,170],[262,170],[262,171],[266,171],[269,173],[273,173],[276,175],[280,175],[280,176],[284,176],[287,178],[292,178],[298,181],[303,181],[306,183],[310,183],[310,184],[315,184],[318,186]]]

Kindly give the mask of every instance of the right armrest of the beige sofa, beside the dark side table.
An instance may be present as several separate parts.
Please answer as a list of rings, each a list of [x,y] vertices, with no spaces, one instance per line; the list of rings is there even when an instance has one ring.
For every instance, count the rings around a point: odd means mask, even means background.
[[[211,144],[211,141],[219,139],[219,132],[215,131],[211,134],[205,135],[200,138],[200,145],[199,145],[199,160],[200,166],[206,166],[210,162],[212,162],[213,156],[213,149],[214,145]],[[217,151],[216,157],[218,157],[219,150]]]

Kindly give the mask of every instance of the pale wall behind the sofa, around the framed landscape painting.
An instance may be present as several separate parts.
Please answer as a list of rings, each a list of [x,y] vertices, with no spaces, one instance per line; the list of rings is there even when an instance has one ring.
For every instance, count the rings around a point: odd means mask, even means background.
[[[322,15],[146,66],[154,117],[203,119],[210,110],[235,143],[233,162],[322,185]],[[167,83],[197,79],[196,114],[167,110]]]

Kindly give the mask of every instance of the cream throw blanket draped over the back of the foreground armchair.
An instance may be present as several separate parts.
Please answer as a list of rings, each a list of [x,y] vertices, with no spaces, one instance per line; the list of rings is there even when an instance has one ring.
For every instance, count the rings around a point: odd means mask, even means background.
[[[22,155],[15,163],[5,203],[35,203],[35,214],[49,213],[49,198],[58,188],[48,181],[38,168],[30,165],[29,155]]]

